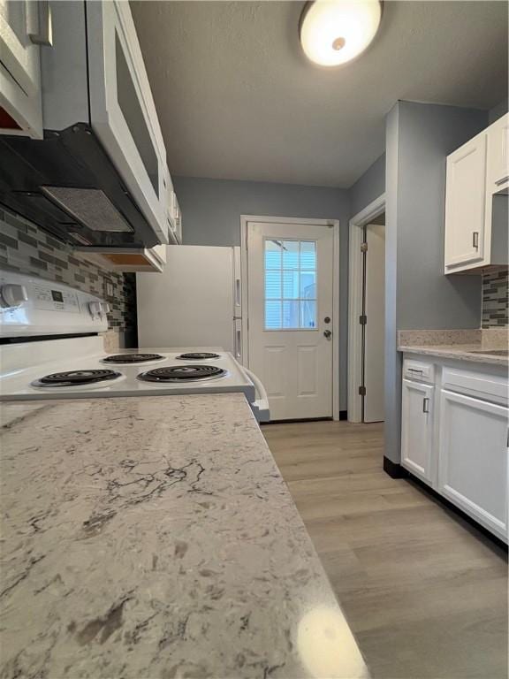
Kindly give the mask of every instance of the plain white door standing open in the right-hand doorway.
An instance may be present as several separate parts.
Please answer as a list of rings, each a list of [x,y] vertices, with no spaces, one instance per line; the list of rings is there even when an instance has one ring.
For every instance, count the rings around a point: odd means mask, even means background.
[[[366,227],[364,422],[384,421],[385,226]]]

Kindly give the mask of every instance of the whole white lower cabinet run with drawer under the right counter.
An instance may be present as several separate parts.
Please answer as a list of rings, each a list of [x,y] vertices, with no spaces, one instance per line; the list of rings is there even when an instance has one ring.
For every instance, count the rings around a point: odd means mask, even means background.
[[[401,465],[507,542],[506,370],[415,358],[403,364]]]

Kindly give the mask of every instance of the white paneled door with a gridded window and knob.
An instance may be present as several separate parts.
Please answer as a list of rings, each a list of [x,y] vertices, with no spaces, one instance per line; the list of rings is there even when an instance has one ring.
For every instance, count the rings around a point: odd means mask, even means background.
[[[249,368],[272,420],[333,415],[334,229],[247,224]]]

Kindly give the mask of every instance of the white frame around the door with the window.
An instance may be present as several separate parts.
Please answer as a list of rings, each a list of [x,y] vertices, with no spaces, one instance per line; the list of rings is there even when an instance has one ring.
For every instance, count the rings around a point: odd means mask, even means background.
[[[303,219],[301,217],[270,217],[267,215],[240,215],[240,277],[242,281],[242,356],[249,368],[249,306],[248,306],[248,263],[247,224],[262,222],[268,224],[299,224],[330,226],[333,229],[332,256],[332,337],[338,341],[332,344],[332,419],[339,419],[339,220]]]

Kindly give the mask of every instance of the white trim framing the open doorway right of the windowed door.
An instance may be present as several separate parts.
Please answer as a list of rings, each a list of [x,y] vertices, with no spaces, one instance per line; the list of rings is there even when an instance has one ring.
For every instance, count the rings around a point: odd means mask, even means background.
[[[359,386],[362,379],[362,229],[385,211],[385,194],[379,195],[348,222],[348,422],[362,422]]]

